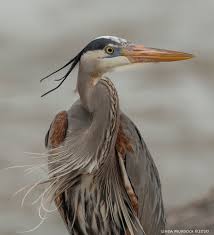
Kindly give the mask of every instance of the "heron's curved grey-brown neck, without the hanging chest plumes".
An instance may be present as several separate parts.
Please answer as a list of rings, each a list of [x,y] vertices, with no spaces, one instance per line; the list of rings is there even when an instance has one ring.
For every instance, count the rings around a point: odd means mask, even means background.
[[[95,84],[96,83],[96,84]],[[119,99],[116,88],[108,78],[92,77],[79,70],[78,92],[83,106],[92,115],[90,135],[95,144],[98,161],[114,151],[119,127]]]

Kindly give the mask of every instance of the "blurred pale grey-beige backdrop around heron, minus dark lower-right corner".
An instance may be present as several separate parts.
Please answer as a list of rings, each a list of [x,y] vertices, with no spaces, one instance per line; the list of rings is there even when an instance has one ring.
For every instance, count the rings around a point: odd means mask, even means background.
[[[44,152],[54,115],[78,98],[76,72],[47,97],[39,79],[89,41],[116,35],[196,55],[110,75],[121,109],[139,127],[159,169],[166,209],[203,197],[214,178],[214,1],[0,0],[0,168]],[[33,178],[34,176],[32,176]],[[32,181],[23,169],[0,171],[0,234],[39,223],[35,208],[12,194]],[[66,234],[53,213],[31,234]]]

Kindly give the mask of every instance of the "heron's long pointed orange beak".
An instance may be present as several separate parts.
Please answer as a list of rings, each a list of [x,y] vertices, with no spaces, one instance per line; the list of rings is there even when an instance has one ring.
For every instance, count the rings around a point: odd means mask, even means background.
[[[184,52],[148,48],[135,44],[123,48],[122,55],[126,56],[131,63],[171,62],[188,60],[194,57],[192,54]]]

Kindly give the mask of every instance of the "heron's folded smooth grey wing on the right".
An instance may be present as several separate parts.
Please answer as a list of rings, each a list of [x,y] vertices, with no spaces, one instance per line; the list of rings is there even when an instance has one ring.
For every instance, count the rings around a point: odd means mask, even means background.
[[[135,124],[121,114],[120,125],[131,145],[125,151],[124,164],[138,199],[138,218],[146,234],[160,234],[165,228],[165,214],[158,170]]]

